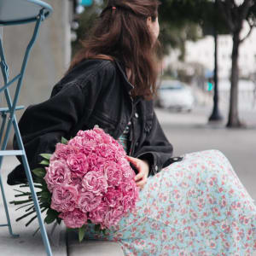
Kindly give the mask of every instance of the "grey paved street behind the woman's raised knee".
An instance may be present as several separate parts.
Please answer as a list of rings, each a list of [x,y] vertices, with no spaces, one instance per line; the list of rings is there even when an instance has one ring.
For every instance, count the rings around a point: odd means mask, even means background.
[[[256,111],[242,109],[240,116],[247,129],[226,128],[228,105],[220,104],[224,120],[208,123],[212,106],[195,108],[191,113],[175,113],[160,108],[155,109],[166,137],[172,143],[174,155],[207,149],[218,149],[230,160],[241,183],[256,200]]]

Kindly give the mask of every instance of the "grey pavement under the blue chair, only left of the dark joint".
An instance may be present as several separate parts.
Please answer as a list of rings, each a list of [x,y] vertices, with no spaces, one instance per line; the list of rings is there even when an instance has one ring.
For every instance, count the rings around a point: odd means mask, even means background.
[[[3,181],[3,187],[7,201],[15,200],[14,189],[19,189],[19,186],[9,186],[6,183],[7,174],[18,164],[18,160],[15,157],[9,156],[3,159],[3,168],[1,170],[1,176]],[[1,192],[0,192],[1,194]],[[15,222],[16,218],[19,218],[21,214],[24,214],[22,209],[15,211],[17,207],[9,204],[9,215],[13,232],[20,235],[18,238],[13,238],[9,235],[8,227],[0,227],[0,255],[4,256],[27,256],[27,255],[46,255],[44,251],[44,243],[40,236],[40,232],[36,236],[32,236],[35,230],[38,229],[38,219],[35,219],[28,227],[25,226],[26,222],[30,218],[25,218],[19,222]],[[3,207],[2,196],[0,196],[0,224],[7,224],[5,211]],[[52,225],[47,225],[47,233],[50,234]],[[66,247],[66,232],[64,227],[58,226],[53,233],[53,236],[49,236],[53,255],[65,256],[67,255]]]

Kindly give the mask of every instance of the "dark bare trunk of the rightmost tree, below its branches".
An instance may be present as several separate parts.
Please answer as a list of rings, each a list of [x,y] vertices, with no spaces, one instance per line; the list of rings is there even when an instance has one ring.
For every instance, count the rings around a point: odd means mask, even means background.
[[[238,117],[238,51],[240,31],[234,32],[233,35],[233,50],[232,50],[232,69],[231,69],[231,89],[230,89],[230,113],[227,127],[241,127],[241,122]]]

